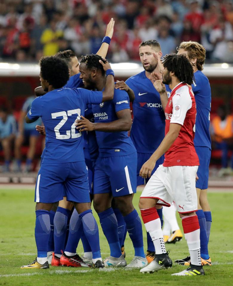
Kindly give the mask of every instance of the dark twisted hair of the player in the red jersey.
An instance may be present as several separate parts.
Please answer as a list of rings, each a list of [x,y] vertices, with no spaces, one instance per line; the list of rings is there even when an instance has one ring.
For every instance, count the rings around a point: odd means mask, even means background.
[[[195,81],[192,66],[185,55],[166,55],[163,57],[163,67],[169,72],[174,72],[183,83],[191,85]]]

